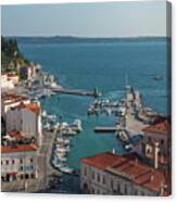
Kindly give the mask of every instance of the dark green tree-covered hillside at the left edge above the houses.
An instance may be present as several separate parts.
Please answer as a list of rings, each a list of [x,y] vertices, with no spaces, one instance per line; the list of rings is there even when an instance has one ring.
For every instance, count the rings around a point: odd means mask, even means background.
[[[29,64],[20,52],[17,40],[1,37],[1,67],[3,72],[17,71],[17,67]]]

